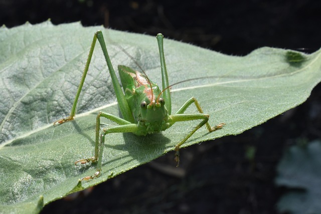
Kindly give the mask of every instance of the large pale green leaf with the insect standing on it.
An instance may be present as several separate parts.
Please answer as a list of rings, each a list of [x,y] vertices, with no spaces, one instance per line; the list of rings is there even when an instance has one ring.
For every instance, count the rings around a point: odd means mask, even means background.
[[[0,29],[0,213],[37,213],[42,204],[173,150],[198,123],[176,123],[145,137],[110,134],[106,136],[101,177],[79,182],[95,172],[95,164],[75,166],[74,161],[93,156],[97,112],[119,114],[99,45],[80,94],[79,114],[72,122],[57,127],[52,123],[70,113],[97,30],[103,31],[114,68],[121,64],[138,70],[121,46],[161,85],[155,37],[103,27],[83,28],[79,23],[53,26],[45,22]],[[306,55],[260,48],[236,57],[172,40],[164,43],[170,84],[216,76],[174,86],[173,112],[194,96],[211,115],[212,126],[227,124],[213,133],[206,128],[198,130],[182,147],[259,125],[304,102],[321,79],[320,50]],[[191,106],[187,112],[197,111]],[[114,125],[108,120],[102,123]]]

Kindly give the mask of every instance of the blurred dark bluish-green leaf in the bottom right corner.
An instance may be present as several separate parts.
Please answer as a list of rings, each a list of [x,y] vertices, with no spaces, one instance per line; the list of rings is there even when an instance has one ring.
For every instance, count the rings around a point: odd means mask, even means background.
[[[321,213],[321,142],[292,146],[278,164],[277,185],[289,190],[278,201],[278,210],[293,214]]]

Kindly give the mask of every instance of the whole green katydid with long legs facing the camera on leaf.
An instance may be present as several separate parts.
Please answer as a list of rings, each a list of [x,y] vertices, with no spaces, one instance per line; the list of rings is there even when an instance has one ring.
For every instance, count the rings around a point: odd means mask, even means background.
[[[175,161],[177,162],[178,166],[180,163],[180,146],[186,140],[188,140],[194,134],[194,132],[196,132],[203,125],[206,125],[209,132],[221,129],[225,125],[225,123],[220,123],[214,127],[211,127],[208,122],[209,114],[205,114],[203,112],[200,104],[194,97],[187,100],[186,103],[184,103],[175,114],[172,114],[170,94],[171,86],[169,85],[163,48],[164,37],[162,34],[157,34],[156,38],[159,49],[159,57],[161,59],[163,91],[161,91],[155,83],[148,79],[144,71],[142,71],[143,74],[141,74],[127,66],[119,65],[118,71],[124,91],[123,93],[110,62],[103,34],[101,31],[95,33],[70,116],[56,121],[54,125],[56,123],[62,124],[74,119],[77,101],[89,69],[90,60],[97,39],[100,43],[107,67],[109,69],[110,77],[123,119],[105,112],[98,113],[96,118],[95,154],[93,157],[80,159],[75,162],[75,164],[79,162],[81,164],[97,162],[96,172],[92,176],[82,178],[83,180],[89,180],[100,176],[105,135],[109,133],[131,132],[136,135],[144,136],[146,134],[164,131],[170,128],[176,122],[202,120],[195,128],[193,128],[191,132],[187,134],[187,136],[181,142],[176,145]],[[195,104],[199,113],[185,114],[184,112],[192,103]],[[100,117],[107,118],[118,125],[100,130]]]

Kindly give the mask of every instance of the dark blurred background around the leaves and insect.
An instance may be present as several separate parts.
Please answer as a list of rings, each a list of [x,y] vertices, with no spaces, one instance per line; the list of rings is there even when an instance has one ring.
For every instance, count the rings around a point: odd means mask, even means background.
[[[246,55],[263,46],[311,53],[321,47],[321,1],[71,1],[0,0],[0,25],[81,21],[117,30]],[[171,152],[41,213],[277,213],[284,188],[276,165],[296,143],[321,138],[321,87],[302,105],[237,136]],[[254,149],[255,155],[246,154]],[[164,169],[158,169],[164,166]]]

